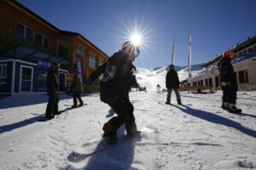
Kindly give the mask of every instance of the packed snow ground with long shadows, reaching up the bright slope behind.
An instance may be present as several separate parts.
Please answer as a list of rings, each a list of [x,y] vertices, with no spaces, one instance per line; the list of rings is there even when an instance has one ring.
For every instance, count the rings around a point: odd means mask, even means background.
[[[256,169],[256,92],[239,92],[242,115],[220,108],[222,92],[181,93],[183,105],[165,105],[166,93],[156,84],[165,71],[137,72],[140,83],[152,90],[130,93],[142,139],[125,139],[81,160],[72,153],[90,153],[102,147],[102,125],[114,112],[99,94],[83,97],[87,104],[73,110],[72,97],[61,94],[63,113],[48,122],[47,95],[16,95],[0,99],[0,169]],[[139,78],[140,77],[140,78]]]

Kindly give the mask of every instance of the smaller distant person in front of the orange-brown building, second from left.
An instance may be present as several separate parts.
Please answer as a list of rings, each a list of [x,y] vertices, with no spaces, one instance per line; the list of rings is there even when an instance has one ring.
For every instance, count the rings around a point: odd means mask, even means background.
[[[73,92],[73,106],[72,107],[78,107],[83,106],[84,101],[81,99],[81,94],[83,92],[83,84],[80,80],[77,73],[73,75],[73,83],[71,85],[69,93]],[[78,105],[79,100],[79,105]]]

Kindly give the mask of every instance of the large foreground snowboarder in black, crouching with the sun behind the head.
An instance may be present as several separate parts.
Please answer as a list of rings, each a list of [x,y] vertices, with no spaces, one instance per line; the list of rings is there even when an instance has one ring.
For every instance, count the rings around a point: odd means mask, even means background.
[[[127,136],[137,137],[140,132],[137,131],[135,117],[133,115],[134,107],[125,93],[127,87],[135,85],[133,77],[132,62],[140,54],[139,48],[131,42],[125,42],[119,52],[113,54],[108,62],[101,65],[96,71],[92,72],[89,78],[89,85],[96,77],[103,73],[100,84],[100,95],[102,102],[108,104],[118,115],[106,122],[102,129],[103,137],[107,138],[108,143],[115,143],[117,139],[118,128],[125,123]]]

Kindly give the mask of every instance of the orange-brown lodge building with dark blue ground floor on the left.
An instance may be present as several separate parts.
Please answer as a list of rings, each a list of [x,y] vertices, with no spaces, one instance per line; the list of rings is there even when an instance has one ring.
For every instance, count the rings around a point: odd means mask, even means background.
[[[60,30],[15,0],[1,0],[0,94],[45,94],[47,70],[56,62],[65,91],[74,72],[85,81],[107,60],[81,34]]]

